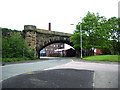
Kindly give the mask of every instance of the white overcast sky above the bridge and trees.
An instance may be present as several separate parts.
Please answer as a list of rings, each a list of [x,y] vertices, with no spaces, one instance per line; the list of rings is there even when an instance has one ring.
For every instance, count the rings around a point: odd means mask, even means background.
[[[119,0],[0,0],[0,27],[23,30],[24,25],[72,33],[88,11],[118,17]]]

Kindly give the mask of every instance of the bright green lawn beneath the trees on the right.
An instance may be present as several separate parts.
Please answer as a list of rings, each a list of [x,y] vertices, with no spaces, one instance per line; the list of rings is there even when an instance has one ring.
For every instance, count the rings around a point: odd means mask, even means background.
[[[85,57],[83,59],[84,60],[94,60],[94,61],[120,62],[120,56],[118,56],[118,55],[97,55],[97,56]]]

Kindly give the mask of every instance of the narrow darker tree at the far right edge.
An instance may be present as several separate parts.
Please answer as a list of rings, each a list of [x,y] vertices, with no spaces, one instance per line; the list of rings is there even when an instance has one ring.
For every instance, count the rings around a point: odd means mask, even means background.
[[[110,50],[112,54],[119,54],[120,53],[120,46],[119,46],[119,35],[120,35],[120,28],[119,28],[120,18],[111,17],[108,19],[108,28],[110,34]]]

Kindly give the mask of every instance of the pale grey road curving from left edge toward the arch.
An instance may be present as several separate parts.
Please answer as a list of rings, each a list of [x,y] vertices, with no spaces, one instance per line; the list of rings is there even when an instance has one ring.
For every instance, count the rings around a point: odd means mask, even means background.
[[[44,69],[65,64],[71,61],[70,58],[59,58],[59,57],[54,57],[54,58],[49,57],[49,59],[46,57],[42,57],[41,59],[42,60],[38,62],[18,63],[18,64],[0,66],[2,67],[2,78],[0,78],[0,81],[22,74],[22,73],[44,70]]]

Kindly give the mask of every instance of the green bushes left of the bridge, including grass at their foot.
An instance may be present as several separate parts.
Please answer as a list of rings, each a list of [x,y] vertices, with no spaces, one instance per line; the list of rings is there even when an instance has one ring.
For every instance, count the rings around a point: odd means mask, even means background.
[[[34,51],[28,48],[28,45],[20,32],[16,31],[14,33],[10,33],[13,31],[9,29],[2,30],[4,30],[2,37],[2,62],[36,59],[34,57]]]

